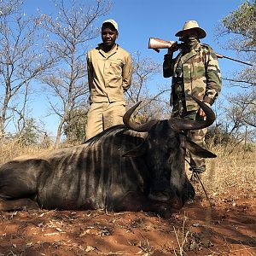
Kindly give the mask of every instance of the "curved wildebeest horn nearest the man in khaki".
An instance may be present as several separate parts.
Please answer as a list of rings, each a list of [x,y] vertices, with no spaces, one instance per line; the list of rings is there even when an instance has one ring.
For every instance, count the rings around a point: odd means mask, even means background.
[[[135,111],[135,109],[138,107],[138,105],[141,103],[142,101],[140,102],[137,102],[137,104],[135,104],[133,107],[131,107],[129,110],[126,111],[124,117],[123,117],[123,121],[124,121],[124,124],[131,130],[133,131],[140,131],[140,132],[143,132],[143,131],[149,131],[150,128],[156,124],[159,120],[157,119],[152,119],[152,120],[149,120],[147,123],[145,124],[136,124],[134,122],[131,122],[131,114]]]

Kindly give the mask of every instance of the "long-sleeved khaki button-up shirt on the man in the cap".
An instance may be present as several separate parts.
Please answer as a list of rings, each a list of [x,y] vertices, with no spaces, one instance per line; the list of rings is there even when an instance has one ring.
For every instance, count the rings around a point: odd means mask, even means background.
[[[108,53],[99,44],[87,53],[90,102],[122,102],[131,86],[131,55],[118,44]]]

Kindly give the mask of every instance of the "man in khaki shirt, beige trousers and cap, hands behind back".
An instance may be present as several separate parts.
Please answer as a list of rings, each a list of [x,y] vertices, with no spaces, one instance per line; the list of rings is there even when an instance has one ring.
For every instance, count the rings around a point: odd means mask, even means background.
[[[90,109],[86,140],[113,125],[123,124],[124,92],[131,85],[131,55],[115,44],[118,24],[102,23],[102,44],[87,53]]]

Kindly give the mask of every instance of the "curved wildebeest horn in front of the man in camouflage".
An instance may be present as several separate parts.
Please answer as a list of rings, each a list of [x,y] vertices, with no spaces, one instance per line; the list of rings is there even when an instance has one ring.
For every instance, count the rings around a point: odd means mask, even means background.
[[[195,98],[195,96],[191,96],[195,102],[198,103],[200,108],[206,113],[207,119],[206,120],[189,120],[189,119],[181,119],[181,118],[172,118],[169,120],[169,124],[172,128],[176,131],[182,130],[200,130],[206,128],[215,120],[215,113],[212,111],[212,108],[209,108],[207,104],[201,102],[199,99]]]

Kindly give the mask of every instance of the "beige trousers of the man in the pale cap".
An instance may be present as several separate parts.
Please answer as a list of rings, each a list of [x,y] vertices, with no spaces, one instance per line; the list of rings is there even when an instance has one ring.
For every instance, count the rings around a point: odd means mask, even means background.
[[[86,140],[98,133],[123,124],[125,102],[93,102],[87,115]]]

